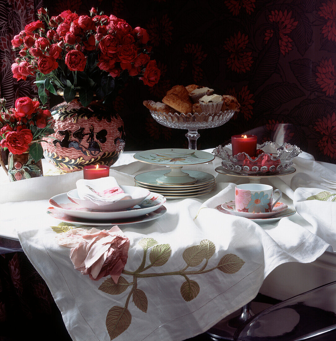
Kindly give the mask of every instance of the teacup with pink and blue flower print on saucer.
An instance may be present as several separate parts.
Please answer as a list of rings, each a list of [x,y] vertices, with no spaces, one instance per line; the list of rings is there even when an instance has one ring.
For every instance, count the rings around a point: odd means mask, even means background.
[[[273,194],[279,197],[273,203]],[[280,190],[262,183],[244,183],[235,189],[235,206],[238,212],[265,213],[272,212],[274,205],[281,199]]]

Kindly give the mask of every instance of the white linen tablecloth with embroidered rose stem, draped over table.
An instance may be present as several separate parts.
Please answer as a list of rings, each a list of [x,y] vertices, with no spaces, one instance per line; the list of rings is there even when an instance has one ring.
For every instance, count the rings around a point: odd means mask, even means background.
[[[74,270],[69,249],[56,243],[50,228],[60,221],[45,213],[48,199],[75,188],[82,172],[3,184],[1,231],[15,227],[73,340],[184,340],[253,299],[278,265],[312,262],[330,245],[336,250],[336,202],[307,201],[325,191],[320,175],[335,172],[303,156],[295,159],[296,173],[264,181],[279,188],[282,201],[297,213],[263,225],[214,209],[234,199],[235,183],[246,182],[215,172],[220,159],[185,167],[213,174],[214,192],[167,200],[163,217],[120,225],[130,249],[123,285],[117,287],[107,278],[92,281]],[[133,162],[130,154],[123,160],[128,164],[110,171],[119,184],[133,185],[134,175],[164,169]]]

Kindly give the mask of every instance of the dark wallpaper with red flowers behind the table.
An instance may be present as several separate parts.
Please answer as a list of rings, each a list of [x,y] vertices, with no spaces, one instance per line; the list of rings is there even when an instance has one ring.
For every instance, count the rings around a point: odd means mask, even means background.
[[[10,30],[5,24],[11,21],[1,18],[2,96],[10,96],[9,86],[16,82],[8,78],[11,54],[6,37],[31,21],[38,2],[8,0],[10,8],[29,4],[26,21],[11,24]],[[233,134],[260,126],[264,126],[264,134],[259,139],[267,140],[277,124],[290,123],[288,142],[317,160],[336,162],[336,0],[43,3],[52,15],[67,9],[87,14],[97,6],[105,14],[113,13],[148,31],[161,79],[152,88],[129,84],[115,101],[125,122],[126,150],[187,148],[186,131],[158,124],[142,102],[161,101],[176,84],[199,84],[218,94],[232,94],[241,104],[240,112],[228,123],[199,131],[199,149],[215,147]],[[14,19],[18,20],[17,14]],[[20,80],[14,91],[26,93],[27,88],[28,82]],[[50,103],[59,101],[52,98]]]

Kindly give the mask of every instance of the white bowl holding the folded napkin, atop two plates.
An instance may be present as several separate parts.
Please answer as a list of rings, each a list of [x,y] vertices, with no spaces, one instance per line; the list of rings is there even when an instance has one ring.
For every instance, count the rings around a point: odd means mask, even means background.
[[[120,188],[127,194],[129,194],[132,199],[121,199],[114,203],[107,203],[105,205],[95,204],[89,199],[81,199],[78,196],[77,188],[71,190],[67,193],[70,201],[75,202],[85,208],[89,208],[94,211],[111,212],[111,211],[122,211],[127,208],[133,207],[140,204],[149,194],[150,191],[145,188],[134,187],[134,186],[120,186]]]

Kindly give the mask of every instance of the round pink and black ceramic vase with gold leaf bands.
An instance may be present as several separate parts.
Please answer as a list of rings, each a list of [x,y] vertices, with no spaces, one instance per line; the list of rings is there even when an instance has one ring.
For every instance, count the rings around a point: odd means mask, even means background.
[[[88,165],[113,165],[125,148],[124,124],[120,116],[100,101],[84,107],[77,98],[51,110],[55,133],[41,145],[44,157],[63,172]],[[50,138],[51,137],[51,138]]]

